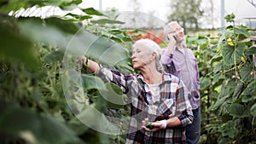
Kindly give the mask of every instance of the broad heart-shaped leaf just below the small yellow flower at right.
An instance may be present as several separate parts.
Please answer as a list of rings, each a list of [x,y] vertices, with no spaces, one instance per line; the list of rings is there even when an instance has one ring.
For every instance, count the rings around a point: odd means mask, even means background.
[[[238,43],[237,47],[230,46],[228,44],[224,45],[224,48],[222,49],[222,54],[224,56],[224,63],[227,66],[232,66],[236,62],[241,61],[241,56],[244,51],[245,44],[244,43]]]

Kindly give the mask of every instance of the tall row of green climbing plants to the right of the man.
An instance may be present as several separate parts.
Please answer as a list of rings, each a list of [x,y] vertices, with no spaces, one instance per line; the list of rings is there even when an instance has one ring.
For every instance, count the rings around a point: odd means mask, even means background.
[[[218,37],[188,37],[201,72],[201,141],[255,142],[255,30],[235,26],[235,15]],[[253,38],[254,37],[254,38]]]

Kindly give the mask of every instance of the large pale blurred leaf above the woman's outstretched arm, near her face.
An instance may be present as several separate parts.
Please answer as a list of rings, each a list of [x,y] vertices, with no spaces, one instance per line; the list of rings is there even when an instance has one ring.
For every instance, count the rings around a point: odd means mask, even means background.
[[[74,55],[86,55],[108,66],[131,66],[127,49],[107,37],[96,37],[83,30],[70,40],[67,51]]]

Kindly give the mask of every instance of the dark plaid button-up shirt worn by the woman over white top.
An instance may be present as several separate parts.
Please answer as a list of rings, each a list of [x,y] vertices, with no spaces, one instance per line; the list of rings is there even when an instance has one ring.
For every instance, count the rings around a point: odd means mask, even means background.
[[[193,112],[189,103],[189,91],[183,82],[169,73],[163,73],[160,83],[160,101],[148,103],[147,97],[152,96],[148,84],[140,74],[122,74],[103,67],[99,72],[102,79],[119,85],[128,95],[131,102],[131,121],[126,143],[185,143],[184,127],[192,124]],[[166,117],[167,116],[167,117]],[[155,132],[142,130],[142,120],[149,121],[177,117],[182,126],[166,128]]]

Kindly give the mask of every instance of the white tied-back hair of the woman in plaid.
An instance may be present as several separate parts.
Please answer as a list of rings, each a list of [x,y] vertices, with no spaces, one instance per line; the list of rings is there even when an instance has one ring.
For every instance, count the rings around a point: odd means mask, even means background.
[[[150,52],[155,52],[155,54],[156,54],[156,57],[155,57],[156,70],[158,72],[162,72],[163,71],[163,65],[161,63],[161,49],[160,49],[160,46],[151,39],[140,39],[140,40],[137,40],[132,45],[132,49],[137,48],[141,45],[148,48],[148,50]]]

